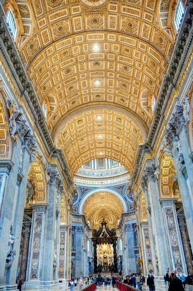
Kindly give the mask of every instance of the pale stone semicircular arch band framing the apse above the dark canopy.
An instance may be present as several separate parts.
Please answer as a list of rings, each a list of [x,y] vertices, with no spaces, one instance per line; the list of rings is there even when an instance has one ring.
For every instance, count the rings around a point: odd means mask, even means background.
[[[121,194],[119,194],[118,191],[114,190],[114,189],[109,189],[109,188],[97,188],[97,189],[92,189],[90,191],[87,192],[87,194],[83,197],[83,199],[80,201],[80,205],[78,207],[78,213],[79,214],[82,214],[82,209],[83,209],[83,205],[85,203],[85,201],[87,200],[87,198],[91,195],[91,194],[94,194],[94,193],[97,193],[97,192],[110,192],[112,194],[115,194],[116,196],[119,197],[119,199],[121,200],[122,204],[123,204],[123,207],[124,207],[124,212],[127,212],[128,211],[128,208],[127,208],[127,204],[125,202],[125,199],[121,196]]]

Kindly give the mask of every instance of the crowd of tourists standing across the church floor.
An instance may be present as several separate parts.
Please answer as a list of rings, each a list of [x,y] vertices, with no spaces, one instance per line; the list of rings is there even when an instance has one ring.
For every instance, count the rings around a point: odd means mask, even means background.
[[[154,276],[148,275],[147,280],[143,275],[139,274],[132,274],[132,275],[112,275],[112,276],[89,276],[89,277],[80,277],[80,278],[72,278],[69,280],[68,286],[70,290],[73,290],[74,287],[79,287],[79,289],[83,289],[87,287],[87,285],[96,282],[98,287],[105,286],[110,287],[112,286],[117,287],[117,282],[122,282],[124,284],[128,284],[129,286],[133,286],[139,290],[142,290],[142,286],[147,284],[149,291],[155,290],[154,284]],[[171,275],[169,275],[169,270],[167,269],[166,275],[164,276],[165,285],[168,286],[168,291],[184,291],[186,288],[186,284],[193,284],[193,274],[189,274],[185,277],[183,274],[176,274],[176,271],[172,271]]]

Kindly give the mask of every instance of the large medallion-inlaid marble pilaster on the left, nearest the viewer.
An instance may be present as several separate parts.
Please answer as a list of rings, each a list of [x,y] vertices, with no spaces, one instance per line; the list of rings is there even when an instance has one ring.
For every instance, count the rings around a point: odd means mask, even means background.
[[[45,240],[45,214],[47,203],[30,204],[33,209],[31,221],[31,235],[29,243],[28,266],[26,282],[23,290],[41,289],[41,267],[43,265],[43,245]]]

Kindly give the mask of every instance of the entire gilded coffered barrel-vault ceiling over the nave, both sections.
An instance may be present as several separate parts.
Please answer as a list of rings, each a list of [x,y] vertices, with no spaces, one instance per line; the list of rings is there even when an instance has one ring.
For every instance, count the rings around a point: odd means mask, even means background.
[[[100,157],[132,174],[173,49],[175,33],[167,23],[173,1],[11,2],[25,32],[18,42],[22,60],[72,177]],[[97,112],[104,116],[100,122]]]

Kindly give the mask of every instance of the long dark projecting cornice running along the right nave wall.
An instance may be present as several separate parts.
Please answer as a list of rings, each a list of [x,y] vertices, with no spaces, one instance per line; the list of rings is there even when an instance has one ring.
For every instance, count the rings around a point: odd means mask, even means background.
[[[176,89],[176,85],[178,84],[180,74],[183,71],[183,66],[185,65],[189,50],[192,48],[193,0],[188,0],[186,5],[188,6],[187,12],[183,18],[178,37],[176,39],[176,44],[168,66],[168,71],[163,79],[147,141],[144,145],[138,147],[136,153],[134,172],[130,180],[130,189],[132,190],[134,189],[134,184],[136,183],[141,170],[141,163],[145,152],[150,152],[155,145],[156,139],[163,125],[168,102],[172,97],[173,91]]]

